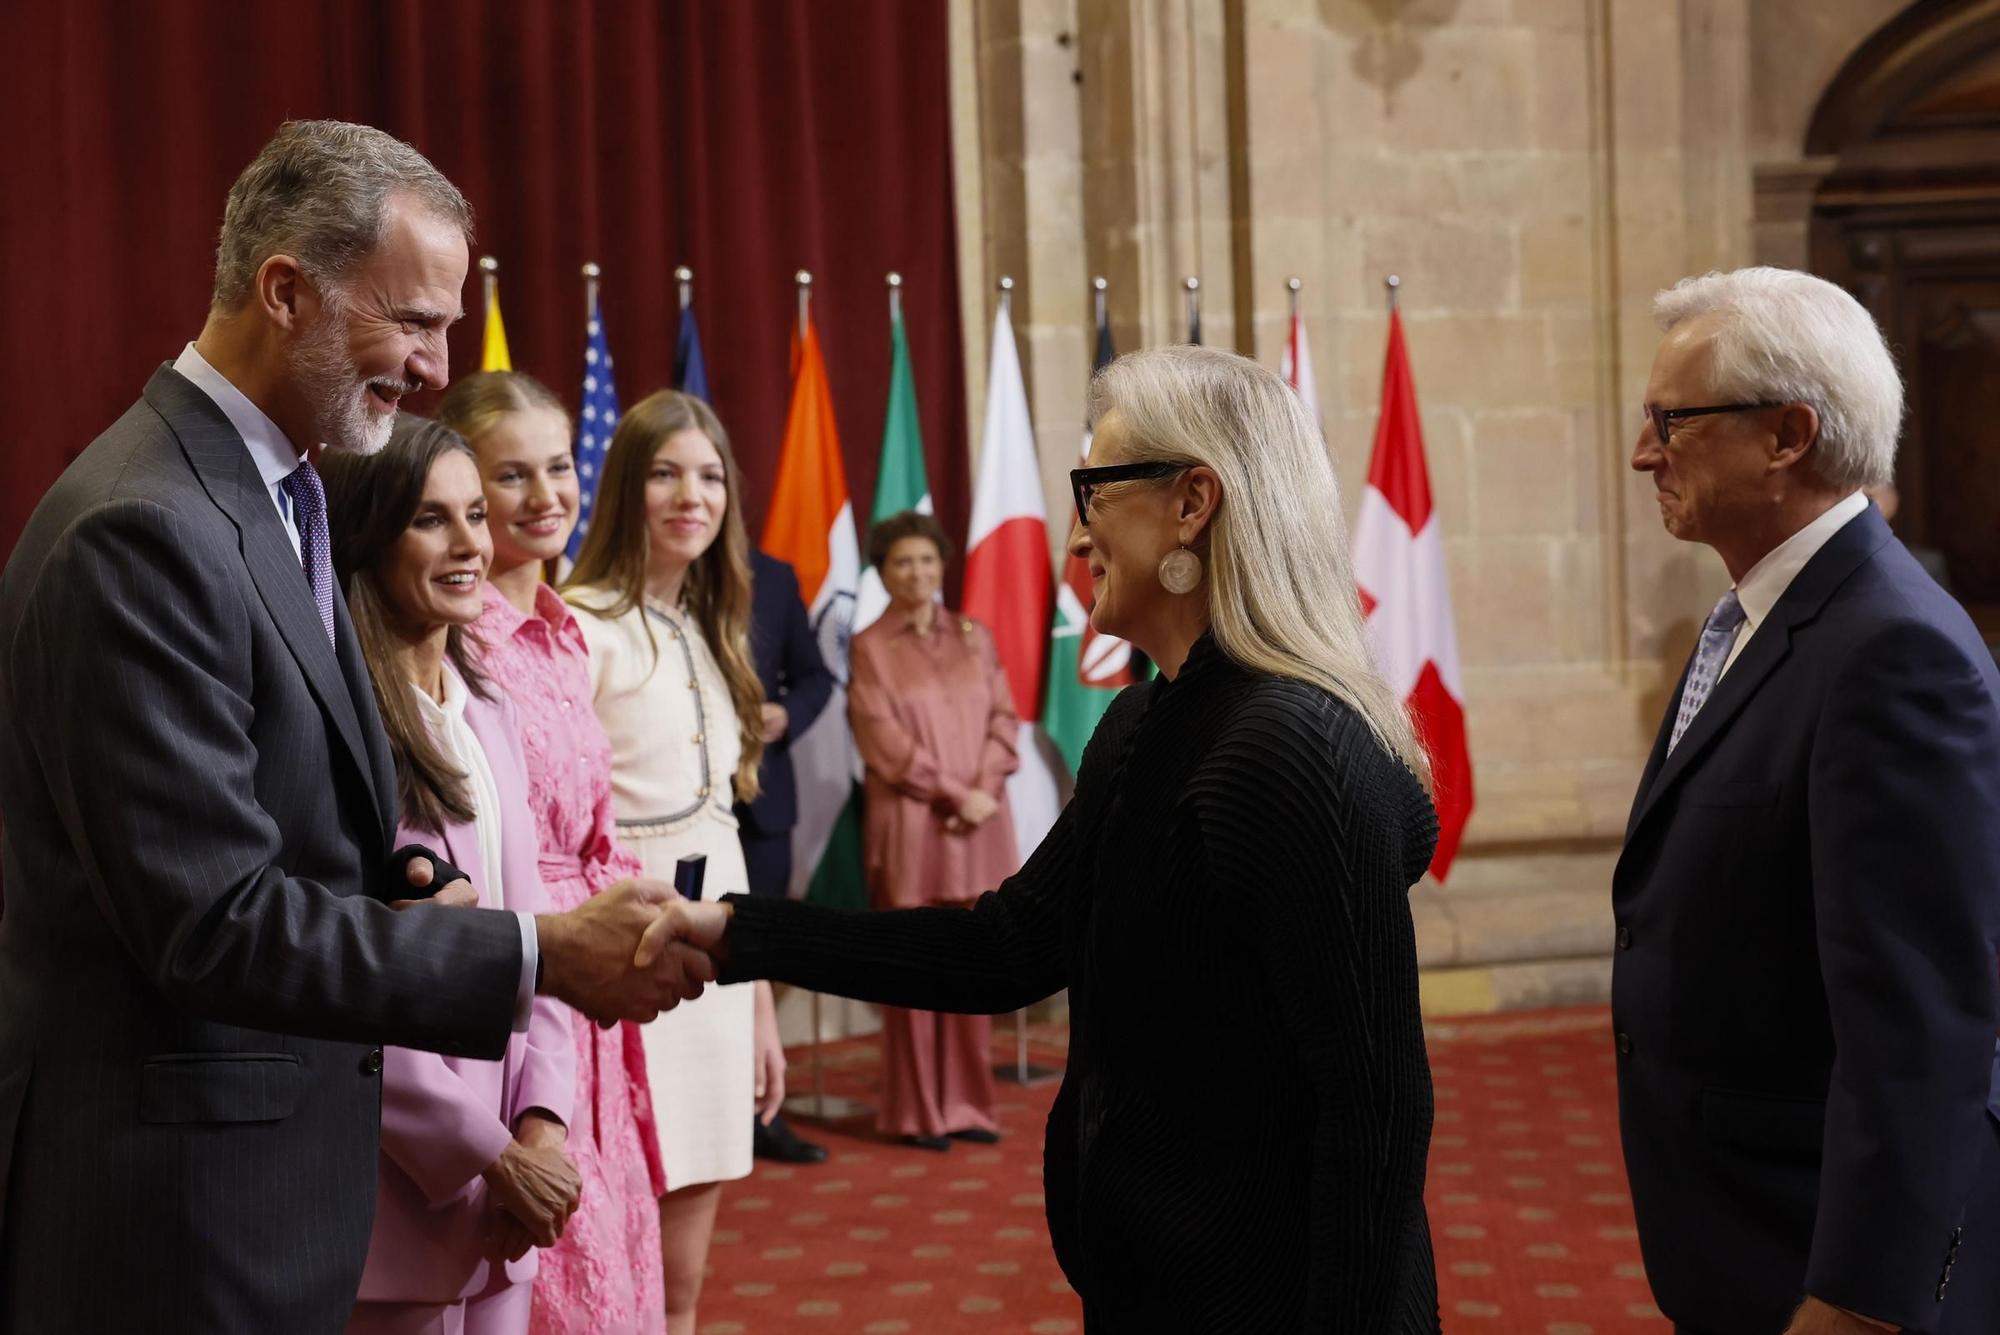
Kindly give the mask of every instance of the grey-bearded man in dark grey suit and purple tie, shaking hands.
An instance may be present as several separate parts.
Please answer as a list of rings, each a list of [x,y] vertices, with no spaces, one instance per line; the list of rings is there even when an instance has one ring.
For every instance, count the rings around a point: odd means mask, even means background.
[[[536,985],[648,1019],[712,977],[678,945],[634,967],[666,885],[542,919],[384,903],[396,775],[312,460],[444,384],[468,228],[406,144],[280,128],[200,338],[0,576],[0,1331],[332,1335],[378,1043],[500,1057]]]

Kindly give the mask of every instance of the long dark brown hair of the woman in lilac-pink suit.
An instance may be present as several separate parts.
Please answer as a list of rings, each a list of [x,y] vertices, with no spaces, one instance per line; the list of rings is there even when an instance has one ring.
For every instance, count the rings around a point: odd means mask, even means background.
[[[354,638],[376,707],[396,761],[396,797],[404,821],[438,833],[446,821],[470,821],[470,775],[460,769],[430,735],[422,711],[396,662],[396,634],[382,602],[380,574],[396,542],[424,504],[424,484],[440,458],[460,452],[478,466],[472,446],[448,426],[402,414],[380,454],[328,450],[320,456],[326,478],[326,528],[334,550],[334,574],[348,596]],[[486,699],[486,677],[478,669],[478,642],[464,626],[444,632],[444,654],[466,689]]]

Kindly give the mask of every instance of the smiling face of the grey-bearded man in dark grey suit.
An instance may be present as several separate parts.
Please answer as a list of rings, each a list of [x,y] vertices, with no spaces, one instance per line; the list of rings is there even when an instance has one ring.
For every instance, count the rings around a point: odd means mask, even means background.
[[[450,380],[444,332],[462,314],[466,264],[456,224],[408,196],[390,200],[382,244],[318,288],[316,314],[292,346],[312,442],[374,454],[404,394]]]

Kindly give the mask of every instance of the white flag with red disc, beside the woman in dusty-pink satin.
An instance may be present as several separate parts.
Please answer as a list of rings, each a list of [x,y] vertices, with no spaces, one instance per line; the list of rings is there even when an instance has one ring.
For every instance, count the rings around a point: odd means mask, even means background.
[[[992,368],[986,380],[986,430],[980,474],[972,486],[966,534],[966,616],[994,634],[994,650],[1014,687],[1020,715],[1020,769],[1006,783],[1022,861],[1062,813],[1056,771],[1062,767],[1036,723],[1048,668],[1048,618],[1056,598],[1048,560],[1048,508],[1034,454],[1028,388],[1006,304],[994,316]]]

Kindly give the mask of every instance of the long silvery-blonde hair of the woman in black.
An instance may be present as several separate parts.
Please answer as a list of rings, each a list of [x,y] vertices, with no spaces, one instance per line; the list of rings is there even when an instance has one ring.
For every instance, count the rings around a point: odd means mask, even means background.
[[[1340,484],[1298,394],[1234,352],[1152,348],[1090,382],[1092,426],[1110,412],[1132,462],[1202,464],[1222,480],[1198,544],[1216,646],[1328,691],[1428,785],[1424,743],[1368,654]]]

